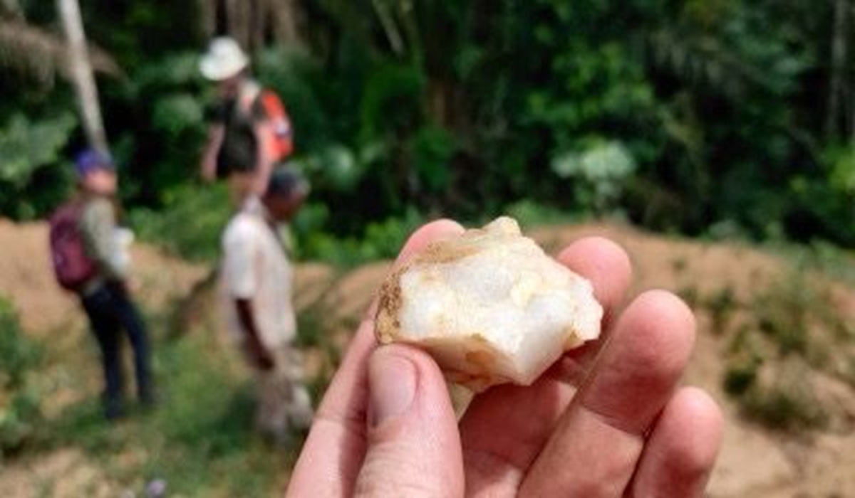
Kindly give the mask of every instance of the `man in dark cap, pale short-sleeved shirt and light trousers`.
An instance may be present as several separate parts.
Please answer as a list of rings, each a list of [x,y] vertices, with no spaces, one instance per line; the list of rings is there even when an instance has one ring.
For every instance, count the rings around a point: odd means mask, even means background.
[[[292,220],[308,193],[298,173],[275,168],[262,196],[245,199],[222,237],[230,328],[257,380],[256,425],[283,445],[292,429],[308,428],[313,416],[302,358],[292,346],[293,268],[280,237],[281,225]]]

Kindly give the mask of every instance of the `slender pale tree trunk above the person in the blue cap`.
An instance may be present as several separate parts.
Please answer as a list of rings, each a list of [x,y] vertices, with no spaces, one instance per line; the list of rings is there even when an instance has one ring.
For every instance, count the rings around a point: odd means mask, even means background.
[[[89,51],[80,18],[80,5],[77,0],[56,0],[56,7],[62,17],[62,28],[68,38],[68,65],[71,69],[74,89],[83,119],[86,140],[93,149],[109,152],[107,137],[104,133],[101,106],[98,104],[98,91],[92,76]]]

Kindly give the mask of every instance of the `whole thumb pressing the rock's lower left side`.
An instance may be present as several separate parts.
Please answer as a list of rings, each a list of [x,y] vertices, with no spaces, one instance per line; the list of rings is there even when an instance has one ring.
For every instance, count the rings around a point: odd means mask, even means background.
[[[369,360],[368,449],[360,496],[462,496],[457,418],[424,352],[383,346]]]

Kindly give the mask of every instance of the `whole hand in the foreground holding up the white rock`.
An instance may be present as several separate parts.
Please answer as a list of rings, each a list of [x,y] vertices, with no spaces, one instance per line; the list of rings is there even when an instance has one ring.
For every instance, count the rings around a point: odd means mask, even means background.
[[[447,220],[424,226],[398,259],[462,230]],[[287,495],[703,495],[722,415],[704,391],[678,386],[693,314],[655,290],[617,316],[631,267],[605,239],[582,239],[557,260],[593,283],[606,312],[598,341],[531,386],[475,396],[458,423],[428,354],[376,346],[374,305],[321,401]]]

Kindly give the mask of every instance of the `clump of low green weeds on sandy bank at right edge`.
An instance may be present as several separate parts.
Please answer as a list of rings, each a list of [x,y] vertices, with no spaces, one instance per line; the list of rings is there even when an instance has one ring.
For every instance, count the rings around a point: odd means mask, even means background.
[[[722,384],[748,419],[793,431],[821,428],[834,416],[834,407],[813,394],[812,372],[852,384],[855,340],[834,306],[830,283],[796,266],[745,304],[729,292],[704,300],[716,333],[732,334]],[[743,319],[729,331],[734,313]]]

